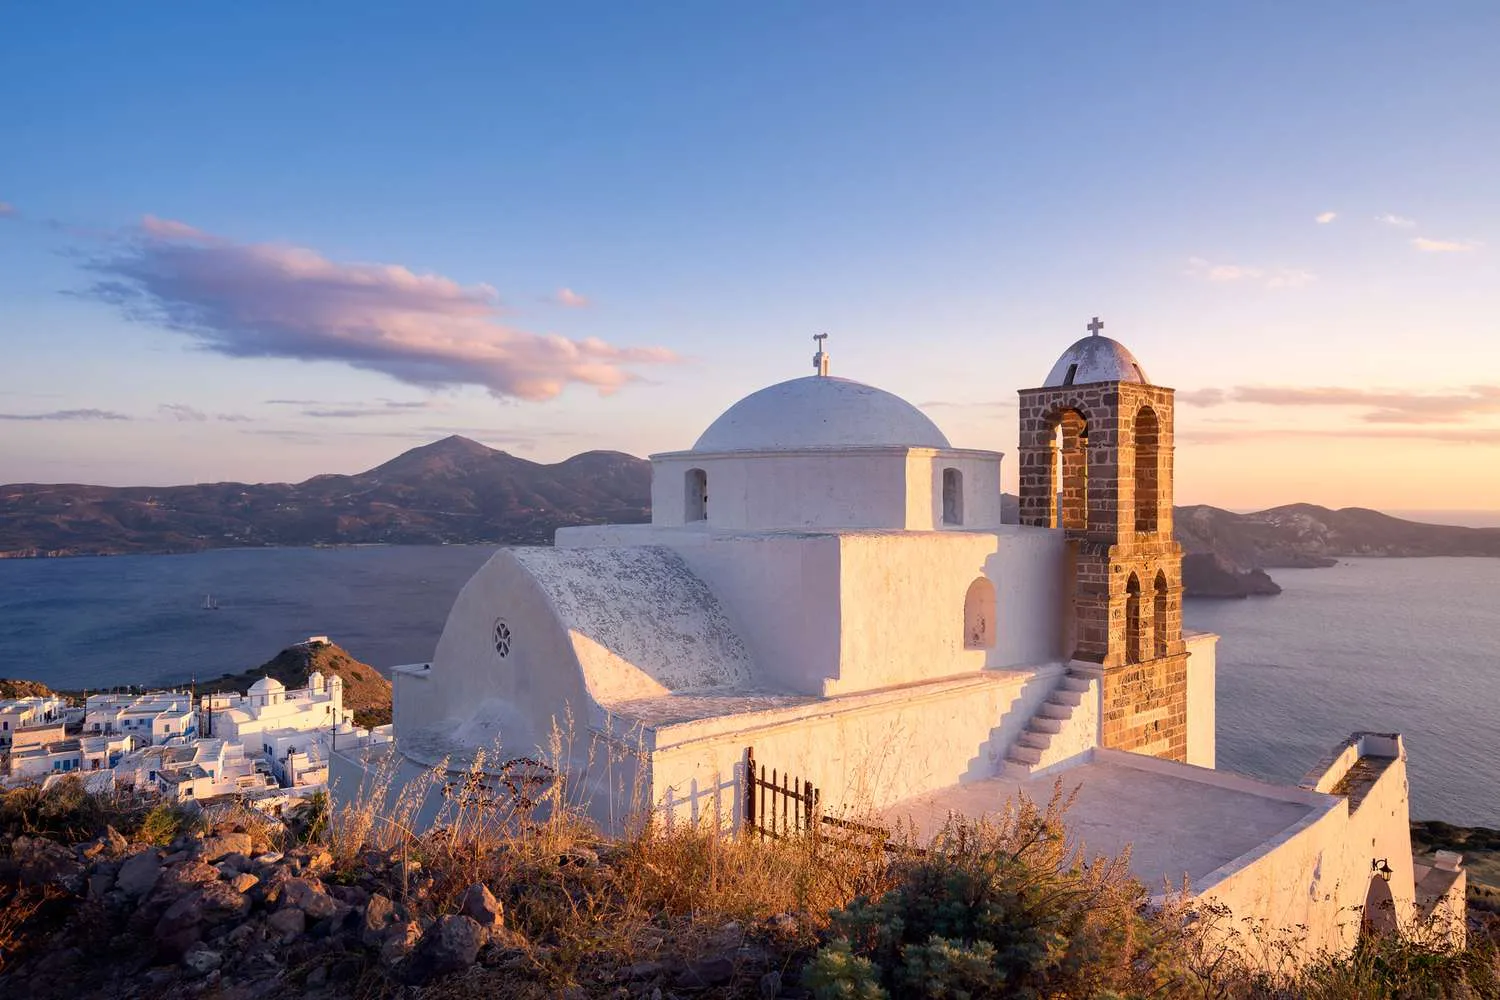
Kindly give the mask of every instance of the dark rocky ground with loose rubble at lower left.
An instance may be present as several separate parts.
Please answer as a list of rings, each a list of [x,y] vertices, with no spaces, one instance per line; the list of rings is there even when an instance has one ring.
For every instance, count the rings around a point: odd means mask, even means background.
[[[110,828],[68,846],[18,837],[0,859],[0,907],[30,913],[26,934],[0,921],[0,997],[800,997],[783,988],[790,915],[718,927],[687,952],[591,970],[597,988],[546,975],[560,943],[507,925],[482,883],[434,912],[434,874],[399,852],[336,867],[318,846],[258,850],[254,828],[188,834],[166,847]],[[576,846],[561,864],[608,867]],[[648,936],[650,940],[650,936]]]

